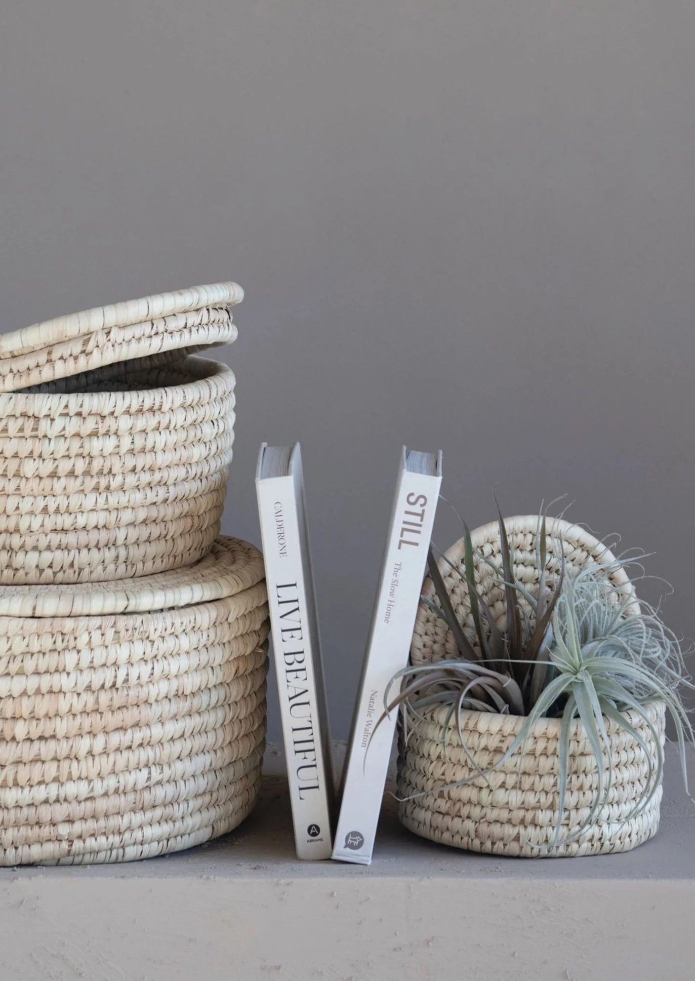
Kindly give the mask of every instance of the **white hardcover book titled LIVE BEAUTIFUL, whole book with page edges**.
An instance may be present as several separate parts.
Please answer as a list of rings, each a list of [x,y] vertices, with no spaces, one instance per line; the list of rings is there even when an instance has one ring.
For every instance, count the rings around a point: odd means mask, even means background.
[[[256,492],[299,858],[329,858],[333,763],[299,443],[262,443]]]

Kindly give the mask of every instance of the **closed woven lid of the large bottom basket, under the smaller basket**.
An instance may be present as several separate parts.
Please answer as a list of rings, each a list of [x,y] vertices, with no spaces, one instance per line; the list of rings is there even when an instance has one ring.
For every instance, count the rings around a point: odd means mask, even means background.
[[[255,545],[220,536],[205,558],[170,572],[75,586],[0,586],[0,616],[152,613],[233,596],[264,576],[263,555]]]

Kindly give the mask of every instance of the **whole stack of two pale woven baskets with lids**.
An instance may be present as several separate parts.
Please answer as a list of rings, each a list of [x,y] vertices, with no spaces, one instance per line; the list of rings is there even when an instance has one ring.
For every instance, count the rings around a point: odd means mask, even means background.
[[[0,863],[235,827],[265,740],[263,560],[219,537],[235,284],[0,338]]]

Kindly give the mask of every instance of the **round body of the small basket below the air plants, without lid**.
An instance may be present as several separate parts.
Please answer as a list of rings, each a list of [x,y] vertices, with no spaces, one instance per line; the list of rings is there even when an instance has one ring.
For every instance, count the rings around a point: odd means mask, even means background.
[[[596,760],[583,726],[578,720],[574,722],[561,844],[548,852],[544,850],[553,844],[558,820],[561,720],[540,719],[522,758],[516,753],[498,770],[481,778],[475,777],[455,722],[446,730],[446,748],[442,744],[447,709],[422,714],[422,731],[409,734],[408,745],[400,748],[398,764],[398,796],[403,799],[400,819],[422,838],[471,852],[558,857],[628,852],[656,834],[662,789],[658,788],[643,811],[633,813],[649,766],[637,740],[615,723],[606,720],[614,768],[611,794],[587,830],[562,844],[586,820],[598,790]],[[653,703],[649,715],[663,743],[664,703]],[[657,748],[650,730],[636,714],[627,712],[626,717],[649,748],[652,765],[656,766]],[[461,713],[466,747],[482,769],[494,765],[509,749],[522,723],[523,719],[515,715]],[[472,783],[463,787],[450,786],[469,778]]]

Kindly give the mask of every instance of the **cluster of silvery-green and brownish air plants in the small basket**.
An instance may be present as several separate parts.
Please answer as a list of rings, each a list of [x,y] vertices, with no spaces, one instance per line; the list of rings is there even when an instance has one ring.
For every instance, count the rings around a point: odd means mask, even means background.
[[[498,509],[499,510],[499,509]],[[661,785],[664,750],[649,715],[649,702],[661,699],[670,713],[678,744],[686,793],[685,746],[695,743],[695,733],[680,692],[695,690],[686,673],[678,639],[646,603],[638,603],[614,585],[612,577],[620,560],[583,567],[567,574],[565,564],[554,578],[546,573],[546,519],[539,518],[536,534],[537,595],[531,594],[514,573],[514,555],[500,514],[502,568],[473,553],[471,533],[464,526],[463,572],[471,605],[474,636],[470,638],[459,622],[444,580],[430,550],[429,573],[437,602],[423,601],[447,624],[459,657],[432,664],[415,665],[391,679],[384,697],[385,713],[400,706],[403,736],[417,730],[422,711],[448,706],[442,725],[446,746],[452,719],[475,774],[458,787],[485,777],[524,745],[539,718],[561,719],[559,740],[559,808],[553,845],[555,848],[581,835],[596,819],[608,800],[613,783],[606,720],[624,729],[645,751],[649,775],[639,799],[625,820],[644,810]],[[478,590],[475,562],[491,566],[496,581],[504,588],[506,622],[503,630]],[[400,685],[396,697],[390,697]],[[477,766],[466,746],[461,725],[466,710],[504,712],[524,716],[519,735],[493,767]],[[656,764],[625,712],[631,710],[649,730],[657,748]],[[561,826],[569,776],[571,724],[579,719],[597,762],[598,792],[580,828],[561,841]],[[414,795],[416,797],[421,795]]]

